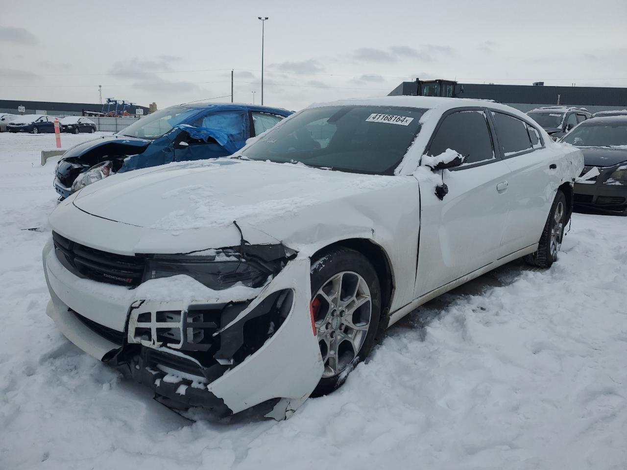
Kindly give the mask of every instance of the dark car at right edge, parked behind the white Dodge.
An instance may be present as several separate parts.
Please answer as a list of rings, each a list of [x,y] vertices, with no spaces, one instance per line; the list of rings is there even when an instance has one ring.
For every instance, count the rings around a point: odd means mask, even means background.
[[[575,204],[627,214],[627,115],[589,119],[561,142],[582,150],[582,174],[593,167],[599,170],[597,177],[575,184]]]

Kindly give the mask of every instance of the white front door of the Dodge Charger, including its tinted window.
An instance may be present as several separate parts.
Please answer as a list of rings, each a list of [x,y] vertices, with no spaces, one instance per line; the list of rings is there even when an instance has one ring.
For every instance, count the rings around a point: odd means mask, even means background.
[[[419,178],[421,222],[418,272],[414,295],[424,295],[501,256],[507,221],[507,175],[495,152],[492,122],[483,108],[446,113],[426,150],[439,155],[453,149],[466,157],[451,171]],[[442,178],[448,194],[440,200],[435,187]]]

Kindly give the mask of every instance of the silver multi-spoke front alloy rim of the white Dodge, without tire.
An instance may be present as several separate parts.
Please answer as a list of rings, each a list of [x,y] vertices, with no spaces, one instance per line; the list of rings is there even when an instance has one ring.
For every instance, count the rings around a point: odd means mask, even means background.
[[[368,284],[354,271],[334,274],[312,297],[312,315],[324,362],[323,378],[334,377],[359,355],[371,325]]]

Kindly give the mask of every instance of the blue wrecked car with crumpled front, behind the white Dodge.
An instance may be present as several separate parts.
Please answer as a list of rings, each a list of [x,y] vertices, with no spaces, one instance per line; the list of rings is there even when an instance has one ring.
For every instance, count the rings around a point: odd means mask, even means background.
[[[110,174],[170,162],[226,157],[246,139],[292,114],[280,108],[232,103],[172,106],[137,120],[114,135],[68,149],[55,170],[63,200]]]

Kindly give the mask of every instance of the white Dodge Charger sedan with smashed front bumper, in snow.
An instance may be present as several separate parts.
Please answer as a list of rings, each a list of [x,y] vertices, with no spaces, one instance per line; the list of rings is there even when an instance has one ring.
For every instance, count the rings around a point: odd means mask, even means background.
[[[232,157],[61,202],[47,313],[167,404],[284,419],[424,302],[517,258],[551,266],[582,168],[497,103],[312,105]]]

